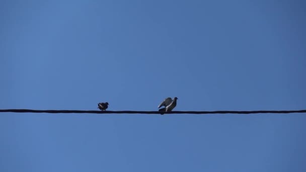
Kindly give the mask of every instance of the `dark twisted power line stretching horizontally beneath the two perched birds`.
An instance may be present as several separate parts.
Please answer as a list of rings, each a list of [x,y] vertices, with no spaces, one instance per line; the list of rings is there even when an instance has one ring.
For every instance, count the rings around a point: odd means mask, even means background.
[[[0,109],[0,112],[13,113],[50,113],[50,114],[161,114],[159,111],[82,111],[82,110],[31,110],[31,109]],[[171,111],[164,114],[291,114],[306,113],[306,110],[293,111]]]

